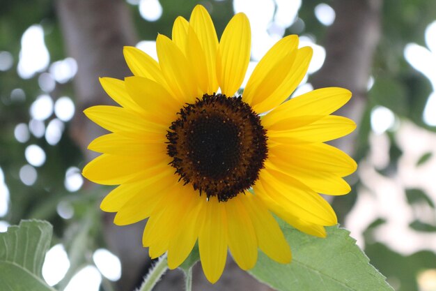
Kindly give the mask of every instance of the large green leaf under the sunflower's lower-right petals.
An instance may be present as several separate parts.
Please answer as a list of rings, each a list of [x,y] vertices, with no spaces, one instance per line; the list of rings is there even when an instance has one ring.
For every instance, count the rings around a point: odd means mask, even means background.
[[[293,250],[290,264],[274,262],[259,252],[250,274],[281,291],[384,291],[393,289],[355,244],[350,232],[338,226],[326,227],[327,238],[283,227]]]

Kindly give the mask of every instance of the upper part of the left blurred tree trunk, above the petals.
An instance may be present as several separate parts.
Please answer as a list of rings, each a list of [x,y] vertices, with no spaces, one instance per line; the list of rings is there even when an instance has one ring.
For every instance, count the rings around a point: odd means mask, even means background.
[[[82,149],[103,133],[82,113],[92,105],[109,103],[98,77],[123,79],[131,75],[123,59],[123,46],[134,45],[130,13],[122,0],[58,0],[56,8],[67,53],[77,61],[74,79],[77,114],[72,136]],[[85,151],[88,161],[92,155]]]

